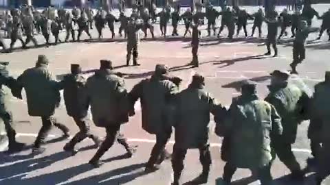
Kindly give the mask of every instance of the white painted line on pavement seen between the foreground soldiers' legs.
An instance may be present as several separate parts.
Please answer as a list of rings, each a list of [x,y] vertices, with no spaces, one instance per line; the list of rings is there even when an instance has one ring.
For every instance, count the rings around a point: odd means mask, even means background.
[[[28,137],[34,137],[38,136],[38,134],[32,134],[32,133],[18,133],[17,136],[28,136]],[[48,135],[50,138],[55,138],[57,136],[50,134]],[[156,140],[153,139],[144,139],[144,138],[127,138],[127,141],[131,143],[156,143]],[[168,142],[169,144],[173,145],[175,143],[174,140],[170,140]],[[210,147],[221,147],[221,143],[210,143]],[[302,153],[311,153],[311,150],[309,149],[292,149],[292,151],[296,152],[302,152]]]

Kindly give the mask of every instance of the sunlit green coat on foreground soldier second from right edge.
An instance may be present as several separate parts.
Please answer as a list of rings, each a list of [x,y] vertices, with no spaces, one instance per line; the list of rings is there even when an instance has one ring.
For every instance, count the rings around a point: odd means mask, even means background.
[[[292,84],[269,86],[270,94],[265,101],[271,103],[280,114],[283,125],[283,139],[287,143],[296,141],[298,124],[300,124],[300,100],[308,97],[303,90]]]

